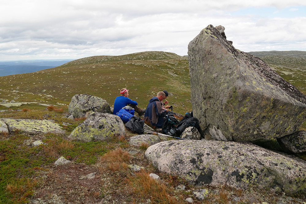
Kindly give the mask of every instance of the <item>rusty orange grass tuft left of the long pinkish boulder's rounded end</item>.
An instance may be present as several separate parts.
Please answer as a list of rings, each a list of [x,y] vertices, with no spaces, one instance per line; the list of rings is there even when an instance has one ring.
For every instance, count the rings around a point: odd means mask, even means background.
[[[128,164],[131,159],[131,156],[126,151],[123,151],[121,148],[115,149],[104,154],[101,157],[101,161],[106,163],[108,169],[115,172],[120,170],[127,170]]]

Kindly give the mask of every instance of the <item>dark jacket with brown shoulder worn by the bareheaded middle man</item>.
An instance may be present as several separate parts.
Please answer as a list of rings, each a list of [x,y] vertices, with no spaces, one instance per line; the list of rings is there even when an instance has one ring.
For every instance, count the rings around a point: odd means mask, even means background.
[[[161,105],[162,103],[155,96],[149,100],[149,104],[145,109],[144,120],[151,123],[152,127],[161,128],[163,126],[163,115],[166,110],[163,110]]]

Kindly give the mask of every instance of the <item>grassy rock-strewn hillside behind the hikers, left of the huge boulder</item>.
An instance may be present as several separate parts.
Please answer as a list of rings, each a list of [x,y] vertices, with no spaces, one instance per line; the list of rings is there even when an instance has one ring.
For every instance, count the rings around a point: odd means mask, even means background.
[[[87,57],[34,73],[0,77],[0,82],[0,98],[9,101],[69,104],[72,96],[84,93],[113,105],[119,90],[127,87],[129,98],[141,108],[158,91],[167,90],[174,111],[191,111],[187,57],[169,52]]]

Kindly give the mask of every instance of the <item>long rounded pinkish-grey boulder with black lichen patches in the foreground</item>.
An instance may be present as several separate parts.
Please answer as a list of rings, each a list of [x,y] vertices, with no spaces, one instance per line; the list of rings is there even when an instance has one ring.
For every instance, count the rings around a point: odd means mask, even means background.
[[[145,157],[159,171],[194,185],[251,185],[274,191],[306,191],[306,162],[257,145],[209,140],[171,140],[150,146]]]

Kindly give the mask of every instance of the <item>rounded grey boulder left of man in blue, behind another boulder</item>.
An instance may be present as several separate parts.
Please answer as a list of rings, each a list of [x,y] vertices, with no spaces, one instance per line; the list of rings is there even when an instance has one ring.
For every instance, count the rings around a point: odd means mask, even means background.
[[[89,94],[74,95],[68,106],[68,111],[75,118],[87,118],[93,112],[112,113],[106,100]]]

